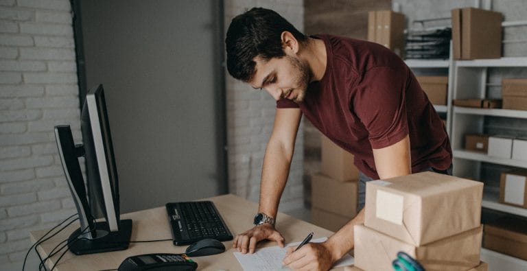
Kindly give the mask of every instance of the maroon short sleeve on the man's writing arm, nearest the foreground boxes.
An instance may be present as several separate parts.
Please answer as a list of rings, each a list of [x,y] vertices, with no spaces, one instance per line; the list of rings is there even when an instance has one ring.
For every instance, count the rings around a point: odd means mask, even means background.
[[[405,69],[376,67],[358,83],[351,106],[368,130],[374,149],[393,145],[408,135],[406,78]]]

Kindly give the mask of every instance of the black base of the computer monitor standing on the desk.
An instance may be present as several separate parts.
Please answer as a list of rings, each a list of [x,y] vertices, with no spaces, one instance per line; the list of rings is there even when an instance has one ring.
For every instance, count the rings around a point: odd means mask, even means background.
[[[96,228],[108,228],[106,222],[96,222]],[[115,250],[126,250],[132,235],[132,220],[121,220],[119,231],[95,239],[80,238],[82,229],[78,228],[68,238],[68,247],[75,255],[84,255]]]

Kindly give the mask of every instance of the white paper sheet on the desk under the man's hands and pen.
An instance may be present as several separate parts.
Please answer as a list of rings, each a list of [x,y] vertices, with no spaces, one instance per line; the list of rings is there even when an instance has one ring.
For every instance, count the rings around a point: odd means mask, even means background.
[[[312,239],[312,243],[320,243],[326,241],[327,237]],[[241,252],[234,252],[234,256],[239,261],[239,264],[244,270],[288,270],[283,269],[282,260],[285,257],[285,252],[289,246],[296,246],[300,242],[287,244],[285,248],[279,246],[272,246],[270,248],[257,248],[253,254],[242,254]],[[333,267],[351,266],[355,259],[351,255],[346,254],[342,259],[337,261]]]

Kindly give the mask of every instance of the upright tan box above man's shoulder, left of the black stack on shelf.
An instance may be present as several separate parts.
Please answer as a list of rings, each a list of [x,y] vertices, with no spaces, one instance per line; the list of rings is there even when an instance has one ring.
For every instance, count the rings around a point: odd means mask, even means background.
[[[404,49],[406,17],[391,10],[368,12],[368,40],[384,45],[401,56]]]

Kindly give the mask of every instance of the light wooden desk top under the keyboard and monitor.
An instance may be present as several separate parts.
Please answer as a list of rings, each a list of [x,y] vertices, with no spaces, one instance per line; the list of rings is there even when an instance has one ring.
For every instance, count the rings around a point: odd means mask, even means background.
[[[208,198],[214,202],[218,211],[220,211],[225,223],[233,235],[243,233],[253,226],[253,217],[258,210],[258,204],[250,202],[244,198],[239,198],[234,195],[217,196]],[[305,221],[298,220],[290,215],[279,213],[277,215],[277,228],[285,238],[286,243],[293,241],[302,241],[307,233],[313,231],[315,233],[314,239],[318,237],[329,237],[333,234],[325,228],[320,228]],[[133,220],[131,241],[142,240],[156,240],[156,239],[172,239],[169,229],[168,217],[165,207],[158,207],[154,209],[137,211],[134,213],[126,213],[121,215],[121,219],[130,218]],[[56,246],[69,237],[73,231],[79,227],[78,223],[71,224],[65,231],[55,237],[45,241],[44,244],[38,246],[38,250],[43,257],[47,257],[48,253]],[[47,231],[36,231],[31,233],[31,239],[34,243],[40,239]],[[219,255],[211,255],[207,257],[193,257],[194,261],[198,263],[198,270],[242,270],[237,259],[233,255],[232,248],[233,241],[225,241],[223,244],[226,247],[226,252]],[[266,246],[277,246],[276,242],[264,241],[257,248]],[[120,250],[114,252],[104,252],[90,255],[73,255],[67,252],[56,270],[108,270],[117,269],[119,264],[132,255],[140,255],[146,253],[183,253],[187,246],[174,246],[172,241],[161,241],[153,243],[131,243],[127,250]],[[47,262],[47,266],[51,268],[56,259],[61,253],[52,257]],[[340,268],[342,270],[344,268]]]

